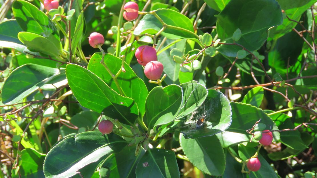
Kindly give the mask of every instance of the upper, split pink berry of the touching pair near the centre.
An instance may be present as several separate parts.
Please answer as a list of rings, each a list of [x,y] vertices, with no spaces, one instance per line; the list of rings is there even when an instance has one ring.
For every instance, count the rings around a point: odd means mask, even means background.
[[[135,57],[138,63],[145,66],[148,62],[157,61],[156,50],[152,46],[143,45],[135,51]]]

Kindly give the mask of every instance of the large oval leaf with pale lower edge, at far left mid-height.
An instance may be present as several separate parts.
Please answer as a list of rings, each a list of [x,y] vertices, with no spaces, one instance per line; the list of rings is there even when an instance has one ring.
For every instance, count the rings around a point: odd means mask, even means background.
[[[37,64],[25,64],[16,68],[3,84],[1,97],[4,104],[14,104],[30,95],[64,71]]]

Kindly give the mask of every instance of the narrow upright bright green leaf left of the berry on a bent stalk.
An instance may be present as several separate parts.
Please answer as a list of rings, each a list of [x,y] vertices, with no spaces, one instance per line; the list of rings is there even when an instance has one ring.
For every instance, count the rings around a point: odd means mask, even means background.
[[[74,10],[74,9],[73,9]],[[75,53],[77,45],[81,45],[81,38],[83,36],[83,29],[84,29],[84,12],[81,11],[81,13],[78,16],[76,27],[74,33],[74,37],[72,38],[72,52]]]

